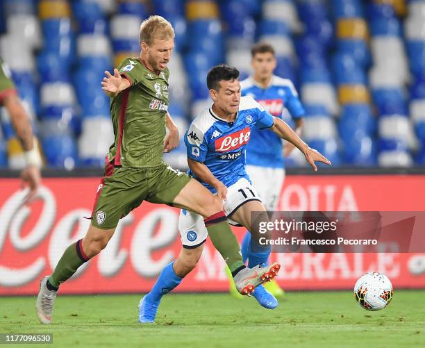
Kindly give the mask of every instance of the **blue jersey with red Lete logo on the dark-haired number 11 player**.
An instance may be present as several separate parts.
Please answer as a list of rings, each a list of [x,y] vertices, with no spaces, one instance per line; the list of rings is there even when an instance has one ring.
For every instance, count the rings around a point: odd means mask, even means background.
[[[227,187],[240,178],[249,180],[245,172],[245,148],[251,133],[273,124],[272,115],[251,97],[241,97],[234,122],[227,122],[208,108],[192,121],[185,133],[188,157],[205,164]],[[197,178],[192,171],[189,174]],[[215,193],[215,188],[201,183]]]

